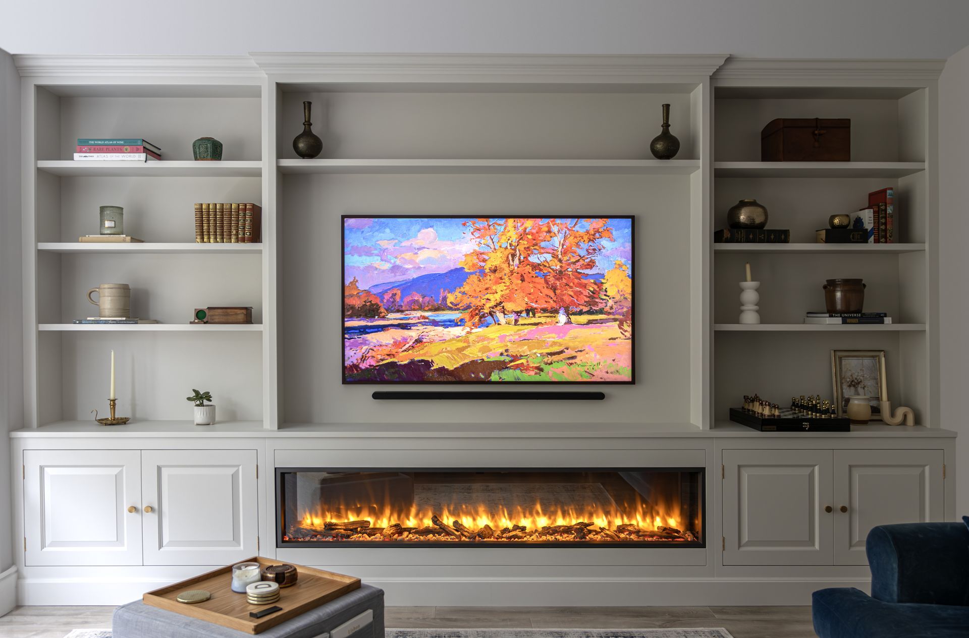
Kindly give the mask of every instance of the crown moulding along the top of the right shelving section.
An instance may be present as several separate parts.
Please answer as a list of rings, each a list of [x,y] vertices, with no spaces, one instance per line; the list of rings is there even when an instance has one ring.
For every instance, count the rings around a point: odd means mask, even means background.
[[[713,79],[938,79],[945,60],[833,60],[730,57]]]

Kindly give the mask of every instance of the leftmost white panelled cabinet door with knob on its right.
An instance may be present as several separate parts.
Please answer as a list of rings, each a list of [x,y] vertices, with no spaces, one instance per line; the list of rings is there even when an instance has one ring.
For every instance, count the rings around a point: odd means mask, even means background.
[[[24,451],[24,563],[141,564],[140,460],[138,450]]]

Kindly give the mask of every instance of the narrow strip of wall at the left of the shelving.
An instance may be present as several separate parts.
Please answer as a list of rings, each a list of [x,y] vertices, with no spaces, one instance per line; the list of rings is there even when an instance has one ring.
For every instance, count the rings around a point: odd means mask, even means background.
[[[20,78],[0,49],[0,574],[14,564],[8,430],[23,418],[20,320]],[[6,613],[0,582],[0,615]],[[9,603],[9,601],[8,601]]]

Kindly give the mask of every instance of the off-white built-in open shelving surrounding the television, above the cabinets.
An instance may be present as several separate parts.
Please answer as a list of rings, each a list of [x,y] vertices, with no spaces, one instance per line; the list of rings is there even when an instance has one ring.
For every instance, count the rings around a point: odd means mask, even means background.
[[[28,425],[85,418],[106,367],[101,349],[111,348],[136,385],[151,361],[181,375],[179,356],[205,370],[192,382],[233,379],[223,392],[238,398],[235,416],[269,430],[448,422],[447,407],[373,402],[372,388],[340,383],[339,216],[505,211],[637,216],[638,289],[664,304],[640,308],[640,381],[610,388],[613,418],[714,429],[745,391],[822,391],[829,350],[857,346],[886,349],[892,401],[940,425],[931,412],[938,63],[523,56],[499,70],[486,56],[434,58],[442,76],[427,59],[257,54],[193,63],[191,73],[186,62],[159,61],[143,74],[124,61],[109,81],[110,61],[64,72],[44,58],[19,60],[29,87],[24,130],[36,131],[24,157]],[[325,140],[313,160],[291,144],[304,100]],[[682,142],[666,162],[645,151],[662,104],[672,105]],[[805,116],[850,117],[853,161],[759,161],[767,121]],[[122,129],[159,144],[166,159],[67,159],[74,137]],[[192,161],[199,135],[222,140],[225,160]],[[896,190],[904,243],[813,243],[828,215],[885,186]],[[712,243],[741,197],[765,203],[769,226],[790,228],[793,243]],[[265,243],[193,243],[191,204],[206,200],[262,202]],[[124,205],[126,230],[145,243],[77,243],[95,231],[104,203]],[[763,282],[756,326],[735,323],[745,261]],[[823,280],[837,276],[865,279],[867,309],[896,322],[800,323],[823,306]],[[94,314],[86,290],[109,281],[130,281],[133,314],[163,322],[72,324]],[[190,325],[206,305],[252,305],[256,323]],[[161,390],[137,393],[141,418],[180,418]],[[59,398],[41,399],[51,395]],[[575,407],[525,410],[518,418],[536,422],[596,418]]]

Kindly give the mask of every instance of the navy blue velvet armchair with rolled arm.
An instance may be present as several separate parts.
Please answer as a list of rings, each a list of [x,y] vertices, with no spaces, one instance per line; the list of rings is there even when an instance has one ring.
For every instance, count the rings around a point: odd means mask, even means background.
[[[969,638],[969,522],[883,525],[868,533],[871,595],[814,592],[821,638]]]

